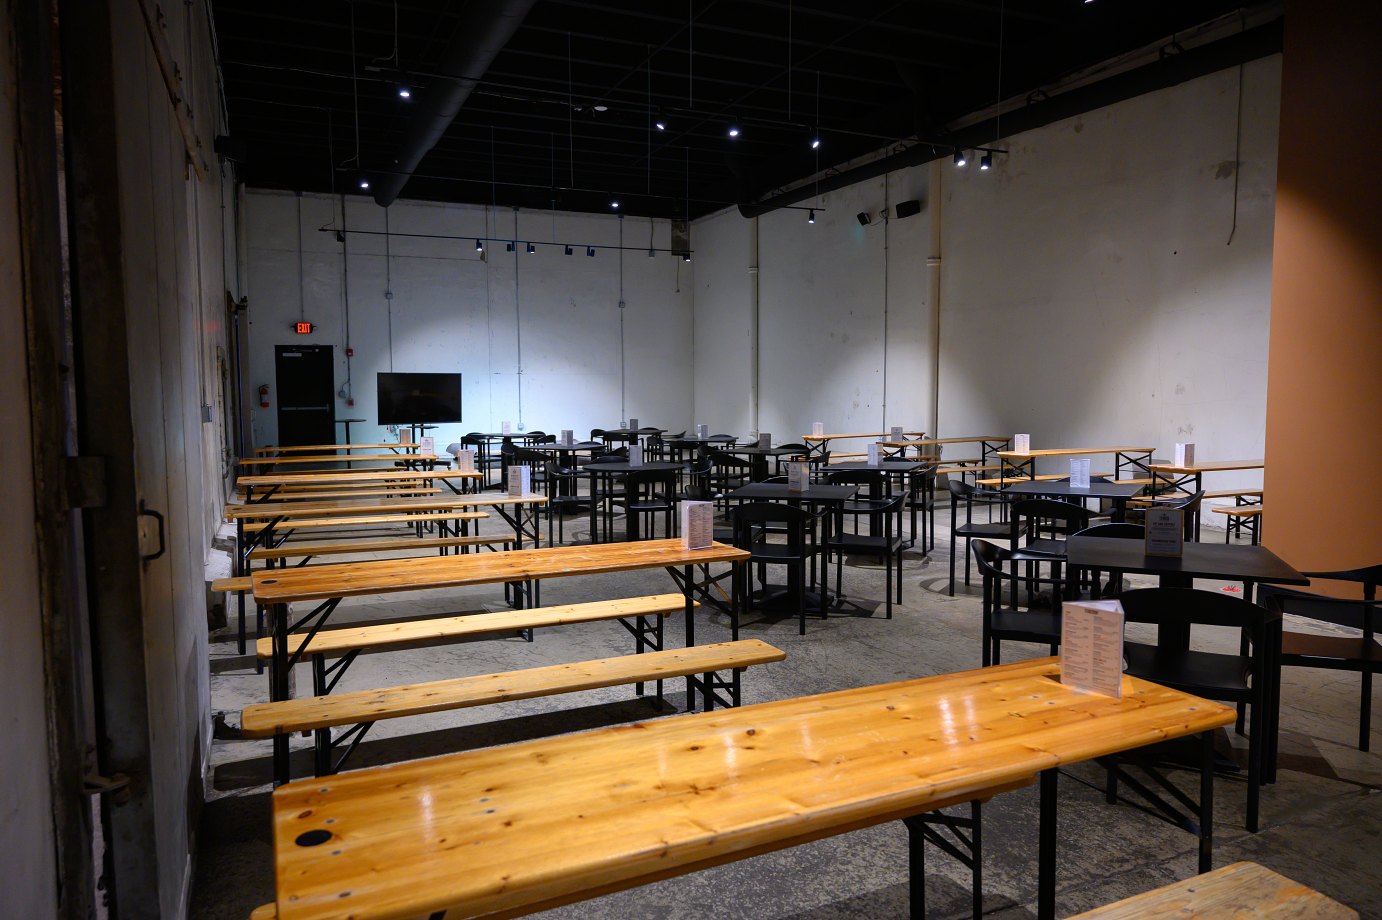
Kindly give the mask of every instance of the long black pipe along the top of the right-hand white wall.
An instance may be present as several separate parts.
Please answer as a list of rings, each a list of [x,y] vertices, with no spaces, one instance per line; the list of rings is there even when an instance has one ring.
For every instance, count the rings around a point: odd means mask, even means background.
[[[1114,102],[1122,102],[1124,99],[1130,99],[1154,90],[1162,90],[1216,70],[1277,54],[1281,51],[1281,36],[1282,19],[1278,18],[1227,39],[1220,39],[1190,51],[1166,55],[1159,61],[1114,75],[1099,83],[1082,86],[1068,93],[1041,99],[1039,102],[1031,102],[1023,109],[1003,115],[1003,134],[1005,137],[1012,137],[1013,134],[1030,131],[1052,122],[1093,112]],[[916,144],[901,153],[884,156],[872,163],[865,163],[858,169],[822,177],[820,182],[807,182],[779,195],[739,204],[739,214],[744,217],[759,217],[779,207],[804,202],[818,192],[833,192],[886,173],[951,156],[955,148],[992,146],[995,130],[994,119],[969,124],[948,135],[944,144]]]

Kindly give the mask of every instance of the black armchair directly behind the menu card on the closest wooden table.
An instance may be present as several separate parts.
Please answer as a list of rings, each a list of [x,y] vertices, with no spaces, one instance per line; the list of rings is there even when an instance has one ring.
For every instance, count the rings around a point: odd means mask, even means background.
[[[1269,739],[1278,696],[1276,648],[1280,645],[1281,612],[1219,591],[1183,587],[1139,588],[1125,591],[1118,600],[1125,623],[1147,623],[1158,629],[1155,645],[1124,641],[1128,674],[1195,696],[1248,706],[1247,827],[1256,833],[1262,785],[1269,776],[1267,757],[1273,751]],[[1206,626],[1247,633],[1248,653],[1206,652],[1164,641],[1168,631],[1189,633],[1193,640],[1195,627]],[[1110,772],[1110,801],[1117,797],[1117,775]]]

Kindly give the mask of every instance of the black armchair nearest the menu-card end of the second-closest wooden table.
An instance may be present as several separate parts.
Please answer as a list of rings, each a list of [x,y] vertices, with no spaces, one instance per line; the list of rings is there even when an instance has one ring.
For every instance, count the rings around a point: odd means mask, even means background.
[[[753,572],[766,587],[767,566],[781,565],[788,573],[788,597],[806,635],[806,584],[820,546],[811,537],[815,515],[806,508],[777,501],[752,501],[730,511],[734,546],[748,550],[748,565],[734,566],[734,609],[748,612],[753,602]],[[825,619],[825,591],[821,593],[821,619]]]

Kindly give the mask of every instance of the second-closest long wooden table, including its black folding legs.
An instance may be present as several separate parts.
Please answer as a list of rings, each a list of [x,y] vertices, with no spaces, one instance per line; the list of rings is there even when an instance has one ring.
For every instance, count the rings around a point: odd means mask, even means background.
[[[694,568],[710,562],[742,564],[748,551],[723,543],[703,550],[687,550],[680,539],[640,540],[637,543],[601,543],[591,546],[551,546],[539,550],[514,550],[484,555],[433,555],[408,559],[375,559],[293,569],[260,569],[252,575],[257,604],[269,608],[274,627],[274,659],[269,675],[271,699],[287,699],[287,674],[303,656],[303,641],[290,653],[289,633],[319,630],[343,598],[362,594],[392,594],[428,588],[470,587],[478,584],[513,584],[521,606],[527,600],[539,606],[536,584],[545,579],[574,575],[607,575],[641,569],[666,569],[685,595],[683,629],[685,644],[695,645]],[[318,601],[310,613],[289,622],[289,604]],[[738,611],[731,609],[731,630],[739,638]],[[687,678],[687,699],[692,696]],[[287,738],[274,739],[275,775],[287,775]]]

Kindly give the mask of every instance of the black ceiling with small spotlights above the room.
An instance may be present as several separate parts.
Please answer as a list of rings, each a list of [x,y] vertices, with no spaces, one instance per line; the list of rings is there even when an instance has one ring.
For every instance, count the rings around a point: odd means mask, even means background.
[[[361,193],[398,157],[460,23],[493,4],[214,0],[242,178]],[[614,196],[625,213],[697,217],[908,138],[943,142],[999,93],[1025,95],[1240,6],[538,0],[402,196],[578,211],[608,211]]]

